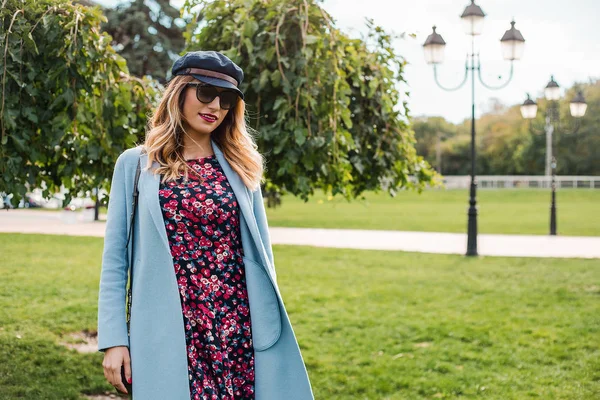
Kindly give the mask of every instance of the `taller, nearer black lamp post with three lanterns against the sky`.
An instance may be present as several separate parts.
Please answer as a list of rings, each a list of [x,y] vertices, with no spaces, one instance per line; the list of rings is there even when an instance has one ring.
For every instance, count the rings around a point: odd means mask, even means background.
[[[460,16],[463,21],[463,27],[465,33],[471,36],[471,54],[467,54],[467,60],[465,63],[465,76],[463,81],[455,87],[448,88],[444,87],[438,81],[437,76],[437,64],[441,64],[444,60],[444,48],[446,42],[442,36],[436,32],[436,27],[433,27],[433,33],[427,37],[423,44],[423,50],[425,52],[425,61],[428,64],[433,64],[433,76],[435,83],[446,91],[458,90],[467,82],[469,71],[471,71],[471,186],[469,191],[469,211],[468,211],[468,234],[467,234],[467,256],[477,255],[477,180],[475,177],[475,71],[481,84],[488,89],[502,89],[511,81],[513,76],[513,61],[521,58],[523,54],[523,48],[525,39],[523,35],[517,29],[515,29],[515,22],[511,22],[511,27],[504,33],[500,42],[502,44],[502,54],[506,60],[510,61],[510,76],[508,80],[499,86],[490,86],[486,84],[481,77],[481,61],[479,60],[479,53],[477,53],[477,63],[475,62],[475,36],[480,35],[483,28],[483,19],[485,13],[477,4],[475,0],[471,0],[462,15]],[[469,66],[469,58],[471,59],[471,65]]]

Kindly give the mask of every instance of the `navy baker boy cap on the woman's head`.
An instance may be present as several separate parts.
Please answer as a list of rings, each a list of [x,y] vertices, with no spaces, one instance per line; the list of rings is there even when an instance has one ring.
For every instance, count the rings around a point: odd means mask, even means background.
[[[200,50],[184,54],[171,68],[171,76],[175,75],[191,75],[209,85],[232,89],[244,99],[244,93],[239,89],[244,71],[217,51]]]

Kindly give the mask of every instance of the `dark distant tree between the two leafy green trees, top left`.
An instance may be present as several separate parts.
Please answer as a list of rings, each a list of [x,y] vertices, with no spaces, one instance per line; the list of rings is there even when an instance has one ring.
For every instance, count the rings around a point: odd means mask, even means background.
[[[164,84],[173,59],[185,45],[181,26],[189,21],[181,19],[168,0],[151,4],[134,0],[107,9],[102,29],[112,36],[112,46],[127,60],[133,75],[150,75]]]

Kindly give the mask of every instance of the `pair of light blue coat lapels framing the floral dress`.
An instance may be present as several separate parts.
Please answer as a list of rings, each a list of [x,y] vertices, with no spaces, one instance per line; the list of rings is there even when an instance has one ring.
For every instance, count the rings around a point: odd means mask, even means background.
[[[262,264],[263,268],[265,268],[265,272],[267,273],[267,275],[270,275],[269,268],[265,267],[266,265],[269,265],[269,261],[267,259],[267,255],[266,255],[266,252],[265,252],[265,249],[263,246],[263,242],[260,237],[260,232],[258,230],[256,217],[254,215],[253,204],[252,204],[252,194],[251,194],[250,190],[246,187],[246,185],[244,185],[244,182],[242,181],[242,179],[240,178],[238,173],[235,172],[231,168],[231,166],[229,165],[229,162],[225,159],[223,152],[221,151],[219,146],[215,143],[215,141],[212,138],[211,138],[211,145],[213,148],[213,152],[215,153],[217,160],[219,161],[219,164],[221,165],[221,168],[223,169],[223,172],[225,173],[225,176],[227,177],[227,180],[229,181],[229,184],[231,185],[233,193],[235,194],[238,206],[240,208],[240,212],[243,215],[244,220],[246,221],[246,224],[248,225],[248,229],[250,230],[250,234],[252,236],[252,241],[254,242],[256,248],[258,249],[258,253],[260,254],[260,257],[261,257],[260,264]],[[168,251],[169,254],[171,254],[171,249],[169,247],[169,240],[167,239],[167,231],[166,231],[163,214],[162,214],[162,210],[161,210],[160,202],[159,202],[159,198],[158,198],[158,190],[159,190],[159,186],[160,186],[160,175],[155,174],[154,172],[152,172],[150,170],[143,169],[143,167],[148,162],[147,154],[143,153],[141,155],[140,161],[141,161],[141,165],[142,165],[142,171],[140,173],[140,181],[139,181],[138,188],[139,188],[140,193],[144,197],[144,203],[147,204],[148,211],[150,212],[150,215],[152,216],[154,225],[156,226],[156,229],[159,232],[162,246],[164,246],[164,249],[166,251]],[[157,168],[158,165],[159,165],[158,162],[154,161],[152,163],[152,169]],[[271,276],[271,278],[273,279],[272,276]]]

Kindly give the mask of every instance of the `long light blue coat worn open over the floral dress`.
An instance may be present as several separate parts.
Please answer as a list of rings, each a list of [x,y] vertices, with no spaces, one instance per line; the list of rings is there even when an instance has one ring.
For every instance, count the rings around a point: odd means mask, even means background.
[[[255,400],[313,400],[306,367],[277,286],[260,188],[248,189],[217,144],[213,140],[211,143],[240,208],[255,356]],[[190,400],[181,300],[158,197],[160,176],[144,170],[146,154],[141,155],[131,328],[127,336],[129,254],[125,244],[141,149],[138,146],[124,151],[112,178],[98,299],[98,350],[129,346],[135,400]],[[157,165],[154,162],[152,168]]]

